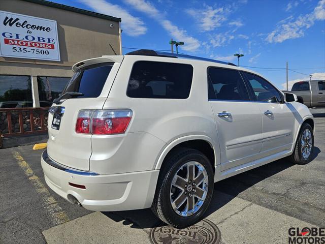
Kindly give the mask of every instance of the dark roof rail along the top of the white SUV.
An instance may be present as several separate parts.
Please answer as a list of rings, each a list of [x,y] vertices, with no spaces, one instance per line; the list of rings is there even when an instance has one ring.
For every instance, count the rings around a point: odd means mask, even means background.
[[[204,60],[204,61],[214,62],[214,63],[218,63],[218,64],[224,64],[224,65],[237,66],[237,65],[235,65],[233,63],[222,62],[222,61],[219,61],[219,60],[206,58],[206,57],[197,57],[197,56],[191,56],[191,55],[187,55],[187,54],[176,54],[176,53],[169,53],[169,52],[160,52],[160,51],[154,51],[154,50],[150,50],[150,49],[140,49],[140,50],[128,52],[125,55],[145,55],[145,56],[187,58],[187,59]]]

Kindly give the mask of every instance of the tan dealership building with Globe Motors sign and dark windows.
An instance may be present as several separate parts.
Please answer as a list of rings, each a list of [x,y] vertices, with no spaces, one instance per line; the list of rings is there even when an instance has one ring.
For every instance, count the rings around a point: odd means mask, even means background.
[[[1,0],[0,108],[50,106],[75,63],[122,53],[120,22],[43,0]]]

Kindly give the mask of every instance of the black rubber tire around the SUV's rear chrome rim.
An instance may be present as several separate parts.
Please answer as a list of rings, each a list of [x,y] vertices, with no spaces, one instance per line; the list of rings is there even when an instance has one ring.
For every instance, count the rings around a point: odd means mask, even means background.
[[[204,202],[201,205],[201,207],[197,210],[197,212],[195,212],[191,216],[182,217],[179,214],[177,214],[172,207],[170,194],[171,194],[171,190],[173,189],[171,185],[172,185],[172,180],[176,175],[177,171],[182,167],[182,165],[191,161],[199,162],[204,167],[207,173],[206,174],[207,177],[205,178],[208,178],[205,181],[208,182],[208,189],[205,195],[206,197],[204,199]],[[198,177],[199,173],[197,172],[196,174],[197,174],[196,177]],[[199,186],[196,187],[197,190],[199,191]],[[204,213],[210,204],[212,194],[213,194],[213,188],[214,188],[214,171],[209,159],[204,154],[202,154],[201,151],[199,150],[186,148],[186,147],[178,148],[171,155],[169,155],[168,158],[165,159],[164,164],[160,169],[156,192],[155,192],[151,209],[154,212],[154,214],[165,223],[170,224],[178,229],[185,228],[187,226],[199,222],[203,218]],[[193,191],[196,191],[196,189],[194,189]],[[185,193],[186,192],[184,190],[184,194]],[[188,194],[188,196],[190,196],[190,194]],[[193,199],[198,200],[198,198],[193,198]]]

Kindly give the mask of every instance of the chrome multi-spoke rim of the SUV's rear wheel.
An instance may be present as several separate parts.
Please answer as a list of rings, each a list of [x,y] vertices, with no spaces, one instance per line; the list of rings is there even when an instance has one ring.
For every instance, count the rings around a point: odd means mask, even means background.
[[[190,161],[183,164],[174,175],[170,201],[174,211],[188,217],[203,205],[208,193],[208,174],[202,164]]]

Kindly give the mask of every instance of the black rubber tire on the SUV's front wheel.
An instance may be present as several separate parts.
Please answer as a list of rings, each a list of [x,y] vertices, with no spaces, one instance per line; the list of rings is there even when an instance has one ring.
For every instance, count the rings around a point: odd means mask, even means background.
[[[311,139],[312,139],[311,151],[310,151],[310,155],[309,155],[308,158],[304,158],[303,155],[302,155],[302,151],[301,151],[301,140],[302,140],[302,137],[303,137],[303,133],[304,133],[304,131],[306,129],[308,129],[311,132]],[[291,155],[290,159],[294,164],[300,164],[300,165],[308,164],[312,159],[313,151],[314,151],[313,129],[309,124],[305,123],[305,124],[302,125],[302,127],[300,129],[300,132],[299,132],[299,135],[298,135],[298,138],[297,138],[297,142],[296,142],[296,146],[295,146],[295,150],[294,150],[294,153]]]

